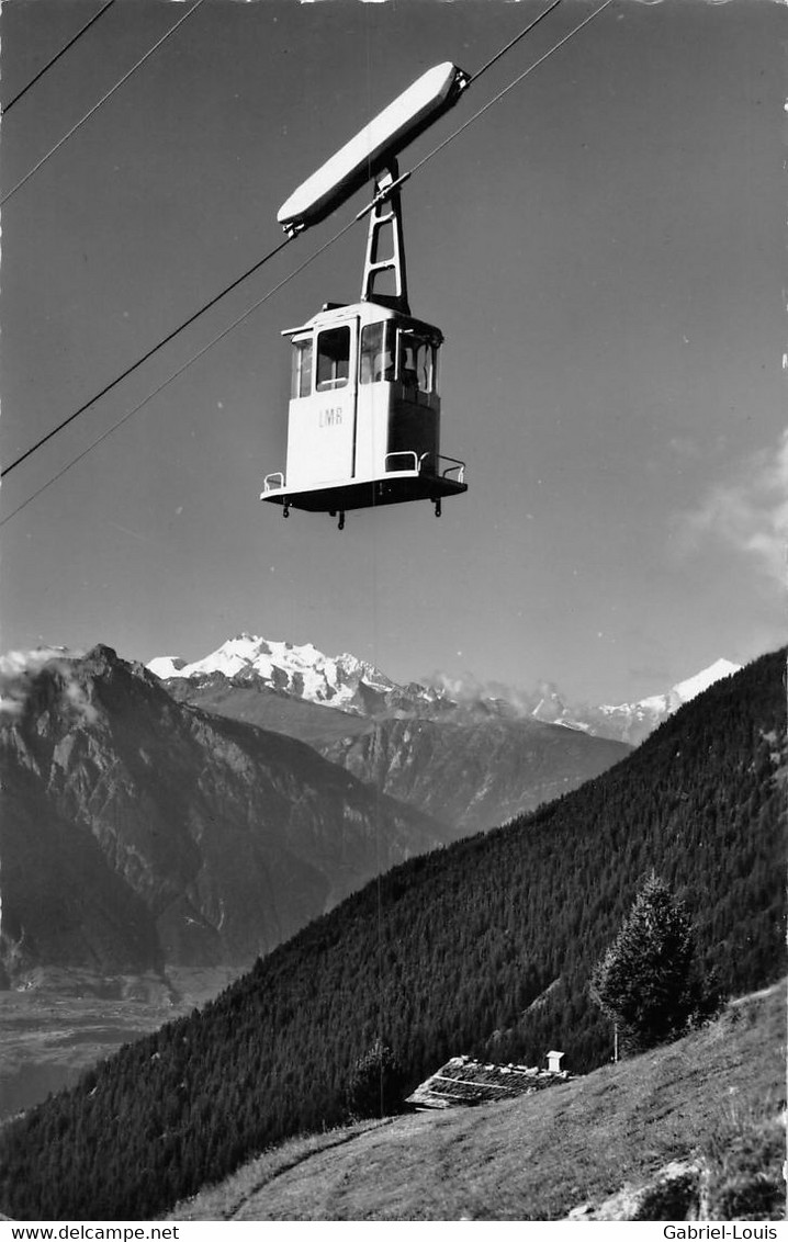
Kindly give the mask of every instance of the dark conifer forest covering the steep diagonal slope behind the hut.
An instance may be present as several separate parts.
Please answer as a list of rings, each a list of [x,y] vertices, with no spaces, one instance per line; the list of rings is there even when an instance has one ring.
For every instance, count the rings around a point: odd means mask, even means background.
[[[408,1089],[461,1052],[604,1063],[612,1032],[589,976],[651,869],[686,903],[725,992],[778,979],[784,671],[784,652],[762,657],[575,792],[389,872],[201,1012],[7,1125],[0,1211],[163,1213],[266,1145],[342,1122],[377,1038]]]

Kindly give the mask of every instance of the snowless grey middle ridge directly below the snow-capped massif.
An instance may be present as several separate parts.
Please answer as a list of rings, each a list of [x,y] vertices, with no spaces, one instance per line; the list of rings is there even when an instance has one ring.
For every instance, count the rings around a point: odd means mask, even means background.
[[[218,671],[164,684],[179,702],[307,741],[380,794],[425,810],[459,833],[533,810],[629,753],[619,741],[527,717],[510,719],[483,705],[469,713],[444,703],[423,712],[411,702],[405,710],[408,688],[388,696],[388,712],[378,699],[372,714],[362,714]]]

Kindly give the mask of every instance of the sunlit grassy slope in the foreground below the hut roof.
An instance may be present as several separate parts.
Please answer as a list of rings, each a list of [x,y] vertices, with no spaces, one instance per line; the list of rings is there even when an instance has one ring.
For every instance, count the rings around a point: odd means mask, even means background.
[[[786,986],[537,1095],[363,1123],[265,1153],[169,1220],[553,1220],[784,1105]],[[782,1139],[774,1149],[778,1175]]]

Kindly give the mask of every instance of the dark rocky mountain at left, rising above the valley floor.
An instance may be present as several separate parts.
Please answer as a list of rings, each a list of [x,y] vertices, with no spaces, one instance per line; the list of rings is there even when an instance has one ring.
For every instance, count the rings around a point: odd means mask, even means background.
[[[297,739],[175,703],[112,648],[17,672],[0,714],[9,977],[250,965],[456,836]]]

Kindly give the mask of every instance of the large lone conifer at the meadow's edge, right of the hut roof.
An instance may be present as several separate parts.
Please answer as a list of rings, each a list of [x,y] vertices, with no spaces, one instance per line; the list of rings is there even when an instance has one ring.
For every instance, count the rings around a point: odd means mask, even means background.
[[[690,917],[656,874],[597,964],[590,995],[630,1052],[677,1038],[716,1007],[713,986],[703,989],[696,974]]]

